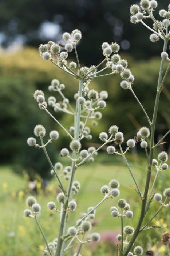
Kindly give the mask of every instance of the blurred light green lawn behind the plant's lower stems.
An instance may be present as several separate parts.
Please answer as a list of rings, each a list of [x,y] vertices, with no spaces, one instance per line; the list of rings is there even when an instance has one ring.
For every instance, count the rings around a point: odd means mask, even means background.
[[[133,181],[129,175],[126,166],[123,163],[93,163],[91,165],[82,165],[77,169],[75,180],[79,180],[81,183],[81,189],[75,199],[78,203],[76,212],[70,214],[70,225],[75,225],[76,219],[80,218],[82,212],[86,212],[89,206],[95,206],[103,195],[100,192],[100,188],[112,178],[116,178],[120,182],[120,197],[126,198],[127,202],[132,205],[132,210],[135,216],[138,214],[138,203],[140,202],[139,196],[133,188],[129,187],[129,184],[133,184]],[[141,187],[143,187],[143,174],[146,172],[145,162],[142,162],[140,167],[135,164],[131,164],[134,171],[134,175]],[[25,195],[26,181],[14,174],[9,167],[0,168],[0,187],[2,188],[4,183],[8,184],[6,189],[3,188],[0,204],[1,204],[1,250],[0,255],[8,256],[30,256],[30,255],[42,255],[41,251],[44,246],[44,241],[41,238],[36,223],[31,218],[23,217],[23,210],[26,207],[25,199],[28,196]],[[55,185],[54,185],[55,184]],[[66,181],[64,181],[66,185]],[[57,237],[59,229],[59,214],[47,209],[47,203],[49,201],[56,202],[57,185],[55,179],[51,181],[53,186],[53,192],[50,195],[46,195],[41,192],[36,195],[37,201],[41,205],[41,215],[39,216],[39,222],[46,234],[48,242]],[[20,192],[19,192],[20,191]],[[21,191],[24,191],[22,197]],[[15,195],[16,194],[16,195]],[[20,196],[19,196],[20,195]],[[132,201],[133,200],[133,201]],[[94,226],[93,231],[117,231],[119,232],[120,219],[113,218],[110,214],[110,207],[116,206],[118,199],[107,199],[96,211],[95,221],[97,223]],[[60,207],[58,205],[58,207]],[[136,219],[125,220],[125,225],[135,225]],[[9,233],[15,232],[15,236],[10,237]]]

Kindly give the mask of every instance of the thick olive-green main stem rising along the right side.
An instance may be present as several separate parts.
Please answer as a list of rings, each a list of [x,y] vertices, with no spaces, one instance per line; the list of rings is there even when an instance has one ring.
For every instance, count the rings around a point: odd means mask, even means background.
[[[168,43],[168,39],[165,39],[164,41],[164,45],[163,45],[163,52],[166,52],[167,50],[167,43]],[[142,206],[141,206],[141,214],[139,217],[139,221],[137,224],[137,227],[134,231],[133,237],[131,238],[131,240],[129,241],[129,244],[127,245],[126,250],[124,251],[124,256],[127,256],[128,252],[130,251],[131,247],[133,246],[143,219],[145,217],[145,207],[146,207],[146,201],[147,201],[147,194],[148,194],[148,190],[149,190],[149,184],[150,184],[150,177],[151,177],[151,170],[152,170],[152,159],[153,159],[153,153],[154,153],[154,135],[155,135],[155,124],[156,124],[156,120],[157,120],[157,113],[158,113],[158,106],[159,106],[159,97],[160,97],[160,92],[159,87],[161,86],[161,82],[162,82],[162,74],[163,74],[163,64],[164,64],[165,60],[161,59],[161,66],[159,69],[159,78],[158,78],[158,85],[157,85],[157,94],[156,94],[156,98],[155,98],[155,106],[154,106],[154,113],[153,113],[153,118],[152,118],[152,124],[151,124],[151,139],[150,139],[150,152],[149,152],[149,165],[148,165],[148,169],[147,169],[147,177],[146,177],[146,184],[145,184],[145,191],[144,191],[144,195],[143,195],[143,199],[142,199]]]

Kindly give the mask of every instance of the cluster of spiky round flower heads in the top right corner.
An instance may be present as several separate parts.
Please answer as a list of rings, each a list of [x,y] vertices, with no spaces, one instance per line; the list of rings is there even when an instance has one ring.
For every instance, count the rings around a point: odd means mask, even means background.
[[[151,42],[157,42],[160,38],[164,39],[167,36],[167,27],[170,25],[170,4],[168,5],[167,10],[159,10],[159,16],[162,18],[162,21],[156,20],[153,16],[153,11],[157,6],[158,3],[155,0],[141,0],[140,6],[133,4],[130,7],[131,23],[137,24],[141,22],[144,26],[154,32],[149,37]],[[154,21],[153,28],[150,28],[143,22],[143,20],[147,18],[151,18]],[[168,38],[170,39],[170,34],[168,34]]]

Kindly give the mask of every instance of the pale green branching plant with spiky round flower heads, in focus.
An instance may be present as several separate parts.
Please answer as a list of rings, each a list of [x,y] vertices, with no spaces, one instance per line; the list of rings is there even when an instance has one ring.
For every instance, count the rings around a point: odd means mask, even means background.
[[[80,251],[84,244],[92,241],[98,242],[100,240],[100,235],[98,233],[91,232],[92,220],[95,218],[96,208],[98,208],[105,200],[114,201],[112,203],[113,206],[110,209],[111,215],[112,217],[120,219],[121,229],[120,234],[117,236],[117,255],[142,255],[144,249],[141,245],[138,245],[135,242],[138,235],[145,230],[155,228],[155,226],[150,226],[151,221],[155,216],[157,216],[163,207],[168,207],[170,205],[170,188],[165,188],[163,195],[161,193],[155,193],[154,191],[155,182],[159,172],[165,172],[168,169],[168,165],[166,163],[168,160],[168,154],[165,151],[162,151],[158,155],[155,155],[154,150],[164,143],[164,138],[170,133],[170,131],[168,131],[157,143],[155,143],[154,134],[159,97],[170,67],[170,59],[167,53],[167,45],[170,39],[170,5],[167,7],[167,10],[162,9],[159,11],[159,15],[163,19],[162,21],[154,18],[153,13],[156,7],[157,1],[155,0],[141,0],[140,6],[134,4],[130,7],[130,12],[132,14],[130,21],[134,24],[142,23],[142,25],[147,27],[147,29],[151,30],[153,32],[153,34],[150,35],[150,40],[152,42],[156,42],[159,39],[164,42],[161,53],[161,65],[156,88],[155,105],[153,106],[153,117],[148,116],[145,108],[133,91],[134,75],[131,74],[130,69],[127,68],[127,60],[122,59],[118,54],[120,47],[116,42],[112,42],[111,44],[104,42],[101,47],[104,56],[103,60],[98,65],[92,65],[90,67],[81,67],[79,63],[77,44],[81,40],[82,34],[78,29],[73,30],[71,34],[68,32],[63,34],[63,40],[66,42],[65,45],[49,41],[47,44],[41,44],[39,46],[40,56],[42,56],[44,60],[51,61],[51,63],[62,69],[63,72],[74,76],[74,78],[79,82],[78,89],[74,94],[74,105],[71,104],[69,99],[64,96],[65,85],[60,83],[58,79],[53,79],[51,85],[48,87],[48,90],[50,90],[53,95],[47,99],[47,102],[43,91],[36,90],[33,95],[39,105],[39,108],[49,114],[70,139],[70,143],[67,147],[62,148],[60,151],[60,155],[68,158],[70,161],[70,165],[65,167],[63,167],[60,162],[55,164],[52,163],[47,153],[48,144],[55,142],[55,140],[59,138],[58,131],[51,131],[49,139],[47,142],[44,142],[46,129],[43,125],[38,124],[34,128],[34,134],[39,141],[37,142],[34,137],[30,137],[27,140],[29,146],[35,146],[44,151],[47,161],[51,167],[51,175],[56,177],[57,184],[61,189],[61,192],[56,195],[56,200],[47,203],[47,207],[59,215],[60,222],[58,237],[54,237],[54,240],[51,242],[47,242],[47,238],[45,237],[38,221],[41,206],[32,196],[28,197],[26,201],[27,206],[31,207],[31,209],[28,208],[24,210],[24,216],[35,219],[46,243],[43,255],[64,256],[69,253],[69,250],[71,250],[71,253],[73,250],[74,256],[80,256]],[[153,20],[153,28],[146,25],[143,21],[145,19]],[[69,62],[68,55],[73,50],[75,52],[76,61]],[[169,65],[163,74],[165,62],[168,62]],[[100,91],[100,93],[98,93],[98,91],[89,87],[91,86],[92,80],[107,75],[120,75],[122,78],[120,86],[122,89],[129,90],[139,103],[141,110],[146,117],[146,126],[141,127],[139,131],[137,131],[134,139],[128,139],[126,147],[124,147],[123,132],[119,130],[118,126],[111,124],[108,132],[103,131],[99,134],[99,139],[102,142],[100,147],[97,149],[95,147],[84,149],[82,148],[82,140],[92,140],[91,129],[88,126],[88,123],[91,122],[94,126],[98,125],[98,120],[102,118],[101,111],[106,107],[106,99],[108,98],[107,91]],[[55,93],[58,94],[58,101],[54,96]],[[51,113],[49,108],[54,110],[54,115]],[[60,123],[57,118],[58,112],[64,112],[63,114],[72,116],[72,124],[70,128],[67,129],[62,125],[62,123]],[[147,174],[144,191],[139,187],[139,184],[133,174],[133,170],[126,158],[126,153],[134,148],[137,143],[140,144],[141,150],[144,150],[147,159]],[[137,216],[138,223],[134,227],[124,225],[124,219],[127,219],[128,222],[129,218],[133,218],[133,212],[130,210],[130,205],[125,199],[119,199],[118,202],[115,201],[115,197],[120,195],[120,184],[115,179],[116,177],[113,177],[111,181],[108,181],[108,185],[103,185],[102,188],[100,188],[101,200],[96,202],[95,206],[90,206],[87,210],[85,209],[80,219],[76,221],[75,225],[70,226],[68,217],[71,212],[74,212],[79,208],[76,203],[76,194],[81,189],[81,185],[79,181],[75,180],[76,170],[81,170],[81,165],[83,164],[94,162],[98,151],[105,145],[107,145],[106,151],[111,155],[110,157],[120,155],[120,157],[123,158],[130,173],[131,181],[134,182],[135,187],[133,185],[131,185],[131,187],[134,188],[141,199],[141,212],[140,215]],[[154,157],[157,159],[154,159]],[[153,182],[151,181],[152,172],[154,173]],[[67,180],[67,187],[64,187],[63,179]],[[160,204],[160,207],[158,211],[150,217],[149,221],[146,222],[146,214],[148,213],[149,208],[152,207],[153,202]],[[128,224],[127,222],[126,224]],[[56,234],[54,234],[54,236],[56,236]]]

